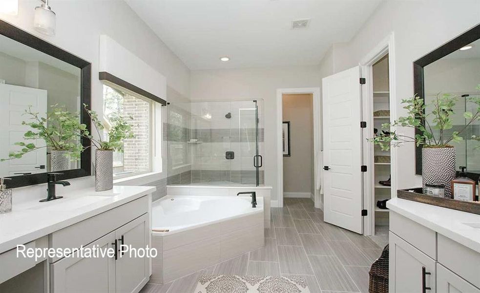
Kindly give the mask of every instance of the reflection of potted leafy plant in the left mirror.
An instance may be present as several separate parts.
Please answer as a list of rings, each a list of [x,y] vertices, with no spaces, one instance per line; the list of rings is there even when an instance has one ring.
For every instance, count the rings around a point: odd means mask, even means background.
[[[82,131],[86,130],[86,125],[80,123],[80,115],[74,114],[63,106],[52,105],[51,110],[42,117],[40,113],[33,112],[31,106],[25,110],[24,115],[30,116],[30,122],[22,121],[22,125],[32,128],[23,134],[25,140],[45,141],[45,146],[36,146],[34,143],[18,142],[17,146],[22,146],[21,150],[13,151],[8,159],[19,159],[23,155],[46,147],[50,152],[50,171],[62,171],[69,168],[69,161],[78,160],[83,151],[80,143]]]

